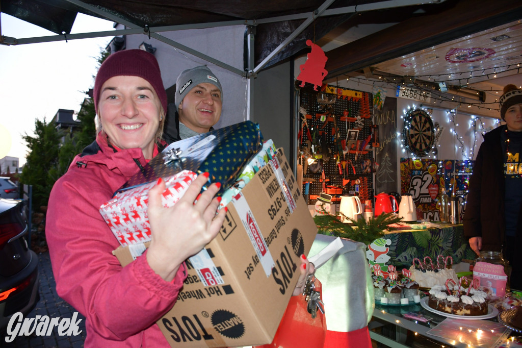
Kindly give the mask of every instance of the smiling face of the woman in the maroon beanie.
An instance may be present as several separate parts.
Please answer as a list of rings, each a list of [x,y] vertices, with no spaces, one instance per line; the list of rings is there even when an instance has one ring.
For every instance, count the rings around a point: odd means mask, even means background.
[[[154,88],[138,76],[114,76],[100,88],[98,113],[110,143],[121,149],[139,147],[152,158],[160,124],[161,102]]]

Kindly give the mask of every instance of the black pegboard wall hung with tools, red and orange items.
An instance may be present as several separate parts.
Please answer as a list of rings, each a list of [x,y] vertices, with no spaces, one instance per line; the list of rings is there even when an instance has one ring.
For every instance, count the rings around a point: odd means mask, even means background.
[[[371,93],[330,85],[300,90],[298,142],[308,204],[315,204],[322,192],[332,195],[334,203],[340,203],[341,195],[373,202],[373,146],[378,140],[372,116]],[[309,158],[315,163],[307,165]]]

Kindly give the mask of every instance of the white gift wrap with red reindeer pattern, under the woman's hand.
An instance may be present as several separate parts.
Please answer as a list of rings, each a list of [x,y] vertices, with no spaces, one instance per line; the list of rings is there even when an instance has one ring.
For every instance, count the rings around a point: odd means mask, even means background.
[[[165,191],[161,198],[165,207],[173,206],[183,196],[197,174],[190,170],[165,177]],[[133,189],[116,193],[113,199],[100,207],[103,219],[122,246],[150,240],[147,216],[149,190],[156,182],[149,182]]]

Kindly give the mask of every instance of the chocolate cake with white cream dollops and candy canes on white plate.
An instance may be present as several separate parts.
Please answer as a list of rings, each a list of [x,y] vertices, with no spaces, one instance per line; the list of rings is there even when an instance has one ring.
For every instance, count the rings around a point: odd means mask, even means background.
[[[461,282],[469,281],[461,278]],[[452,286],[450,283],[453,283]],[[430,289],[428,306],[431,308],[454,314],[458,316],[483,316],[488,314],[487,296],[483,291],[478,290],[478,282],[465,289],[462,284],[457,284],[452,279],[448,279],[444,285],[434,285]]]

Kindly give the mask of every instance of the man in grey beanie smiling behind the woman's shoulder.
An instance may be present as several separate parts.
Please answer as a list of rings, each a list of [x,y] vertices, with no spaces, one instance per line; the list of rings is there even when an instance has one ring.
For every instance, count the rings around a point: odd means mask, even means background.
[[[168,143],[212,130],[221,117],[223,90],[205,65],[183,71],[176,80],[175,102],[169,104],[164,140]]]

